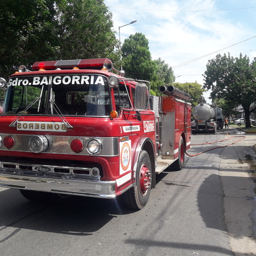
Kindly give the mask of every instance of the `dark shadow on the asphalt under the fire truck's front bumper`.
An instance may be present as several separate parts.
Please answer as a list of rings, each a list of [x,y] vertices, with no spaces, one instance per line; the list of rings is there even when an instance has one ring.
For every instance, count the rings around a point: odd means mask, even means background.
[[[29,201],[19,190],[0,192],[0,231],[7,227],[88,236],[116,218],[133,213],[112,199],[71,196],[52,203]]]

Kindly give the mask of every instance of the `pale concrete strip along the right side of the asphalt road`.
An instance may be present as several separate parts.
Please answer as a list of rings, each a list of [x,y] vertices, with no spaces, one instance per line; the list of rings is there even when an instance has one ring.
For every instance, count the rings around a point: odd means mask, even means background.
[[[223,129],[227,138],[234,127]],[[232,132],[233,131],[233,132]],[[230,136],[231,135],[231,136]],[[253,160],[256,163],[256,134],[241,134],[245,139],[224,148],[220,175],[224,190],[224,217],[230,246],[236,256],[256,256],[256,185]],[[239,134],[237,134],[239,136]],[[230,138],[227,144],[235,142]]]

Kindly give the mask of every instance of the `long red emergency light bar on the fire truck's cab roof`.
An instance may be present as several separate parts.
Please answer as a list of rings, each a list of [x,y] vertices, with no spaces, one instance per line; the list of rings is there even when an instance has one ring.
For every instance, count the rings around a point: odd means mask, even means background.
[[[113,64],[108,58],[99,59],[87,59],[87,60],[63,60],[63,61],[38,61],[32,66],[33,70],[55,70],[57,68],[61,70],[73,69],[73,67],[78,67],[79,69],[94,69],[101,70],[111,70]]]

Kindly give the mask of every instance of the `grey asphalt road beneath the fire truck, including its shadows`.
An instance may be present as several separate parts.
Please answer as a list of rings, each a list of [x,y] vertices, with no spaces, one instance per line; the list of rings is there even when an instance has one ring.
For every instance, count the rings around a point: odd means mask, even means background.
[[[231,131],[231,130],[230,130]],[[192,143],[222,140],[193,134]],[[189,154],[224,145],[193,145]],[[224,222],[221,154],[216,148],[186,157],[185,169],[163,172],[140,211],[118,201],[61,198],[55,203],[26,200],[0,188],[1,256],[228,256],[234,255]]]

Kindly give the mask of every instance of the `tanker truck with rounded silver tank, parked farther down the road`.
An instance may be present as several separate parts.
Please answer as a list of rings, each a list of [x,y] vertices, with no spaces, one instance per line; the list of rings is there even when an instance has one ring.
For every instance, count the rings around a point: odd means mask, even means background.
[[[217,129],[223,128],[224,117],[222,109],[216,105],[200,103],[193,109],[194,120],[191,122],[191,131],[209,131],[215,133]]]

